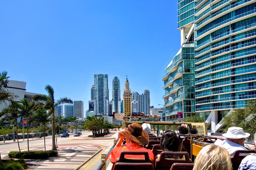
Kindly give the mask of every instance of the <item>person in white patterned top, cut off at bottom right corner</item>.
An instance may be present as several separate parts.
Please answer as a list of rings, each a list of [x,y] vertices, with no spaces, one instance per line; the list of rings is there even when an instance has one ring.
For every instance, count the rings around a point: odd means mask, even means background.
[[[254,147],[256,148],[256,133],[254,134]],[[256,153],[246,156],[238,170],[255,170],[256,169]]]

